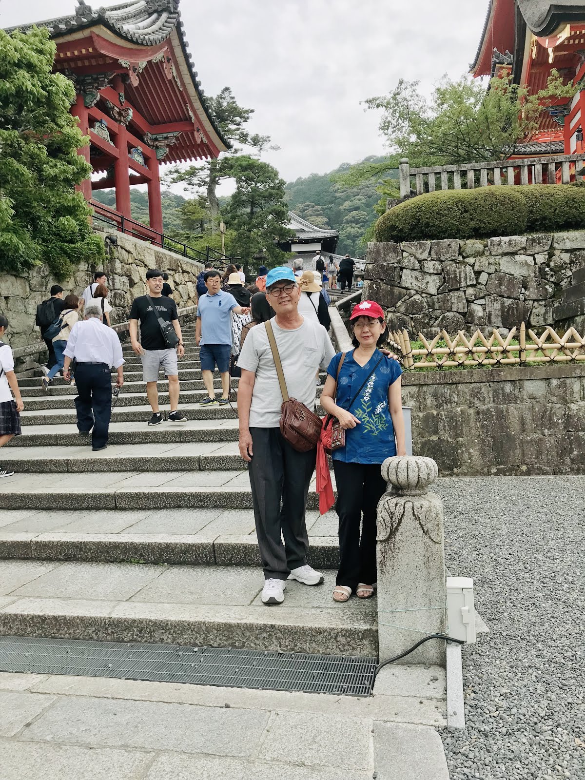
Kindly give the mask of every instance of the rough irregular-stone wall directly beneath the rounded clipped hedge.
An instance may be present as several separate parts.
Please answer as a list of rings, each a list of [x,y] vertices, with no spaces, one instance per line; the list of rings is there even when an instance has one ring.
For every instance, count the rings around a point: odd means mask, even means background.
[[[363,297],[389,311],[392,329],[450,335],[553,324],[553,307],[585,268],[585,231],[370,243]]]

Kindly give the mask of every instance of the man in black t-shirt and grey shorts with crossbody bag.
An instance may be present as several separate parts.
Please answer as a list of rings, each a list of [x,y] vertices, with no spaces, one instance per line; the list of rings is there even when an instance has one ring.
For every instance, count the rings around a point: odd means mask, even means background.
[[[152,408],[152,417],[149,425],[158,425],[162,422],[162,415],[158,410],[158,372],[164,369],[168,379],[168,400],[171,403],[169,422],[184,423],[187,419],[177,410],[179,405],[179,368],[177,357],[183,357],[183,336],[177,314],[177,305],[172,298],[161,295],[163,285],[162,271],[151,269],[147,271],[148,295],[140,296],[134,300],[130,310],[129,329],[132,349],[142,359],[143,379],[147,385],[147,398]],[[150,299],[149,300],[149,296]],[[154,309],[153,309],[154,306]],[[158,317],[165,322],[172,322],[176,335],[179,337],[179,345],[168,347],[161,333]],[[140,342],[138,341],[138,321],[140,320]]]

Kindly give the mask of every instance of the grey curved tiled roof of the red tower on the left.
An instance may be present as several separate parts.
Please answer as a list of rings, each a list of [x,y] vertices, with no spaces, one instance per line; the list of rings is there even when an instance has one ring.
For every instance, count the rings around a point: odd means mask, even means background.
[[[109,8],[100,7],[97,10],[92,9],[84,0],[78,0],[75,13],[71,16],[58,16],[56,19],[35,22],[34,24],[37,27],[47,27],[53,39],[101,24],[108,30],[112,30],[115,35],[140,46],[161,44],[171,37],[173,30],[176,30],[183,54],[189,65],[193,87],[197,91],[197,97],[199,97],[207,114],[207,119],[225,146],[230,146],[215,123],[211,109],[205,101],[204,90],[200,89],[197,71],[193,69],[193,61],[188,51],[189,44],[183,36],[179,0],[129,0],[129,2],[122,2]],[[33,26],[33,24],[20,24],[7,28],[6,32],[19,29],[26,32]]]

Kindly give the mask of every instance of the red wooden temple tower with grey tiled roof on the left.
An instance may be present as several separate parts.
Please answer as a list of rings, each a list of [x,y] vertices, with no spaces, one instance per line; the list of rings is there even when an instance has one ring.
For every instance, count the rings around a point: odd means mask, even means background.
[[[75,84],[71,112],[90,137],[80,154],[105,174],[83,182],[83,195],[92,201],[92,190],[114,187],[115,211],[104,211],[121,222],[131,218],[130,186],[146,184],[151,229],[161,233],[161,161],[215,158],[227,148],[193,70],[179,0],[97,11],[79,2],[73,16],[37,26],[57,45],[55,71]],[[140,232],[149,237],[146,227]]]

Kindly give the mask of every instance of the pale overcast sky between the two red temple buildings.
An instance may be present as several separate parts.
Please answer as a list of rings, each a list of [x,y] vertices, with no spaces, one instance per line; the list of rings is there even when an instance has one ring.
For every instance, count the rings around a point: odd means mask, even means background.
[[[115,5],[97,0],[100,5]],[[75,0],[0,0],[0,27],[73,13]],[[399,78],[425,92],[473,60],[488,0],[182,0],[186,40],[208,95],[232,87],[286,181],[381,154],[366,97]]]

